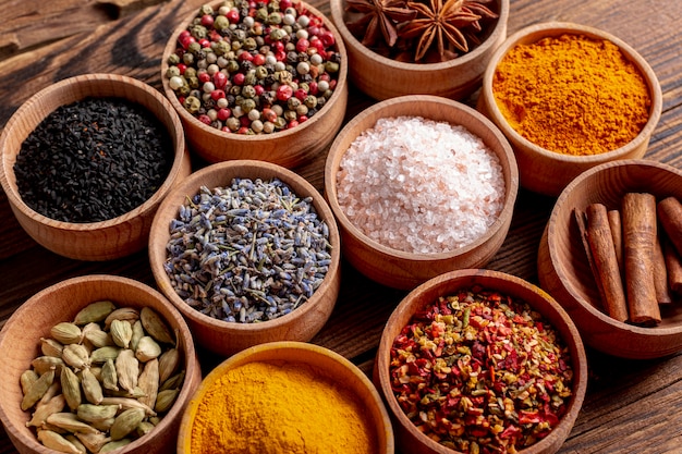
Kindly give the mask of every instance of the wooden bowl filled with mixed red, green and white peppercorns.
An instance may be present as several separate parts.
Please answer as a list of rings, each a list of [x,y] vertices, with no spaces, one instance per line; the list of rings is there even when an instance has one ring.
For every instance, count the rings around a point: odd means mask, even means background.
[[[204,160],[294,168],[341,127],[348,64],[333,24],[303,1],[218,0],[175,28],[161,76]]]

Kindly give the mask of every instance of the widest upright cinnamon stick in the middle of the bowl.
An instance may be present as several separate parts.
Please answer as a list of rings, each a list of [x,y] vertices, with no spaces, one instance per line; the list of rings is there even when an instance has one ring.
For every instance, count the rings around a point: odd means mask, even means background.
[[[622,199],[625,289],[630,321],[637,324],[660,322],[654,284],[656,244],[656,197],[628,193]]]

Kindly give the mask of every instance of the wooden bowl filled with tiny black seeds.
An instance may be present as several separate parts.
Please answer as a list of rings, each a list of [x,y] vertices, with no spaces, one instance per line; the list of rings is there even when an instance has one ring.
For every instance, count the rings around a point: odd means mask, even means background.
[[[114,74],[84,74],[37,93],[7,123],[0,150],[0,183],[22,228],[78,260],[146,247],[160,201],[191,173],[170,102]]]

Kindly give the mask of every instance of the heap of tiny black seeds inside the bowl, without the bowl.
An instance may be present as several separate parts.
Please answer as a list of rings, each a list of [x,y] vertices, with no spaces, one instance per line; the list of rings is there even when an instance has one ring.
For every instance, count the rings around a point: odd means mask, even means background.
[[[149,199],[168,176],[166,126],[122,98],[86,98],[51,112],[26,137],[14,164],[32,209],[63,222],[99,222]]]

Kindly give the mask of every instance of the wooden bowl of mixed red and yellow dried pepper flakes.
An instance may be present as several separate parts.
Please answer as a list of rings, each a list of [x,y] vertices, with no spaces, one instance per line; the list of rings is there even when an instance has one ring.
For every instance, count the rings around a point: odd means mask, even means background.
[[[577,418],[587,359],[573,321],[543,290],[459,270],[398,305],[374,381],[406,452],[549,454]]]

